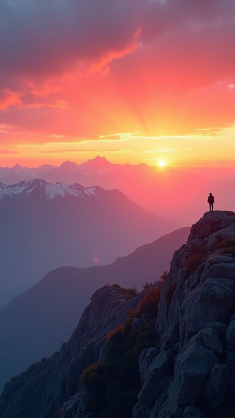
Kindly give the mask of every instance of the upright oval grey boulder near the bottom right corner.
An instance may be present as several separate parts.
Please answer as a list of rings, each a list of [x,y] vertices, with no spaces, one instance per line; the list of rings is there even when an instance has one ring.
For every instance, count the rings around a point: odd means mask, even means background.
[[[223,405],[228,384],[229,367],[227,364],[214,364],[204,389],[204,399],[208,407],[219,408]]]

